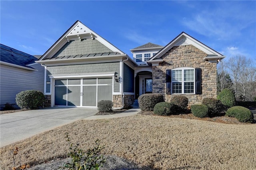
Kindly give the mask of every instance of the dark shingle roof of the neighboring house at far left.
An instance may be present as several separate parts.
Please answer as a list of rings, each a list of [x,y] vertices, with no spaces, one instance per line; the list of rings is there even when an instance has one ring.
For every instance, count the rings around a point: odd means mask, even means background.
[[[0,61],[32,68],[28,64],[35,63],[38,59],[33,55],[24,53],[17,49],[0,44]],[[32,68],[33,69],[33,68]]]

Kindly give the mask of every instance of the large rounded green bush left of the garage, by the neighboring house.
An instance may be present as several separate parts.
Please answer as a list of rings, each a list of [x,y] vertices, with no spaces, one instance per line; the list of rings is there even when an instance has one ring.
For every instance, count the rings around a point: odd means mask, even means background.
[[[21,91],[15,99],[20,109],[38,109],[44,105],[44,94],[38,90]]]

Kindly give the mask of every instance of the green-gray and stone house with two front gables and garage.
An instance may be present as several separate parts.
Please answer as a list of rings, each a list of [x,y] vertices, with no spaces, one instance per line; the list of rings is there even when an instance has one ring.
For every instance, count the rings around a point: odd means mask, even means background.
[[[126,53],[76,21],[36,63],[45,67],[49,106],[114,108],[144,93],[186,95],[190,105],[216,97],[216,63],[223,55],[182,32],[165,47],[147,43]],[[201,75],[202,74],[202,75]]]

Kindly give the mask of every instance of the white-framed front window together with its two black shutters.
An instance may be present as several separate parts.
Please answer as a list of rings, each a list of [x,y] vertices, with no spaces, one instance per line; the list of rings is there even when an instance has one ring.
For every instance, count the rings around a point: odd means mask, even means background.
[[[201,69],[181,67],[166,70],[167,94],[200,94]]]

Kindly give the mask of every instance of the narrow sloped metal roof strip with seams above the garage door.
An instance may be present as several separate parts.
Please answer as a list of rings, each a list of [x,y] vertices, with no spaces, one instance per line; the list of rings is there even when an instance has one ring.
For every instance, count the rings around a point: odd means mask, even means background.
[[[83,55],[68,55],[68,56],[60,56],[60,57],[52,57],[44,60],[60,60],[60,59],[74,59],[74,58],[90,58],[90,57],[100,57],[107,55],[119,55],[118,52],[110,52],[110,53],[91,53],[91,54],[83,54]]]

